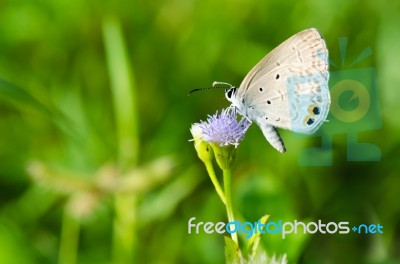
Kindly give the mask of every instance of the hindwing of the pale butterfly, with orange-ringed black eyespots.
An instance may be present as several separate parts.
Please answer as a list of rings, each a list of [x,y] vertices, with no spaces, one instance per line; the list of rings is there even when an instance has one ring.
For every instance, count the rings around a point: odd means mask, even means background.
[[[276,68],[251,84],[244,102],[250,119],[261,117],[276,127],[313,133],[329,112],[327,79],[302,65]]]

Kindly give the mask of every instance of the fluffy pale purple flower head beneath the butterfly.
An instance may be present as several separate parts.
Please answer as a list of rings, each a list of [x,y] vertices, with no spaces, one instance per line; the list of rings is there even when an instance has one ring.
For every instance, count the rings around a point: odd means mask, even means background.
[[[200,123],[200,128],[204,141],[219,143],[221,147],[237,147],[250,125],[251,122],[246,118],[238,121],[235,108],[227,108],[222,109],[220,114],[217,111],[214,115],[209,115],[206,122]]]

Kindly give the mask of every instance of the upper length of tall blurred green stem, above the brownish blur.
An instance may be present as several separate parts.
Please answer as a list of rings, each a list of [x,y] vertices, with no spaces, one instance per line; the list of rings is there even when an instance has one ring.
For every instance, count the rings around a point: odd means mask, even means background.
[[[135,79],[117,18],[104,20],[103,37],[118,136],[119,165],[125,169],[136,165],[139,157]]]

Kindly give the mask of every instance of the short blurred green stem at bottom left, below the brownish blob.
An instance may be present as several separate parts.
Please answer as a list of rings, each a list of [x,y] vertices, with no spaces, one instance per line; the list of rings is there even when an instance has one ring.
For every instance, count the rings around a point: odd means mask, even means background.
[[[78,242],[79,242],[79,222],[74,219],[64,209],[62,219],[61,241],[58,255],[58,263],[74,264],[77,259]]]

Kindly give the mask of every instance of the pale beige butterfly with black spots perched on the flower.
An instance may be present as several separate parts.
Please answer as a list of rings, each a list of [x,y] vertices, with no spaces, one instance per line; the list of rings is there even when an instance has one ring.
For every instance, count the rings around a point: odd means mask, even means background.
[[[239,88],[230,85],[225,97],[284,153],[276,128],[311,134],[325,122],[330,106],[328,68],[323,37],[315,28],[306,29],[267,54]]]

